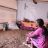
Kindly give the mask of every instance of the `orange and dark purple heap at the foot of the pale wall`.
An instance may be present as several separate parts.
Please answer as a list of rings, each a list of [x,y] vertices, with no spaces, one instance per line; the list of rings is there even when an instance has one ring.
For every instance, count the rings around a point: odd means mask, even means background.
[[[28,19],[24,19],[23,21],[17,21],[16,24],[20,29],[23,30],[35,30],[36,28],[35,22],[29,21]]]

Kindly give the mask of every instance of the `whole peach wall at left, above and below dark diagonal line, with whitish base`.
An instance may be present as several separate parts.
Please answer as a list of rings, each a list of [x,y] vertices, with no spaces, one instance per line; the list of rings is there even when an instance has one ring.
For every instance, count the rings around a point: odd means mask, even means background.
[[[0,0],[0,23],[8,22],[10,29],[16,29],[16,0]],[[0,29],[3,25],[0,24]]]

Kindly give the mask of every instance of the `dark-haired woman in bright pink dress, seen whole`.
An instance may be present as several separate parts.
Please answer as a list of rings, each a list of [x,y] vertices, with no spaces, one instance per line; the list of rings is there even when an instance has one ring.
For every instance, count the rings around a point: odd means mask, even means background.
[[[37,19],[37,29],[27,35],[26,42],[36,46],[36,48],[44,48],[46,28],[42,19]]]

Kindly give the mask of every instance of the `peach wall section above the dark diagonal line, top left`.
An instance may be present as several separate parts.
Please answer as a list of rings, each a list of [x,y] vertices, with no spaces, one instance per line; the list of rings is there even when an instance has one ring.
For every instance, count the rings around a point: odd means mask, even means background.
[[[10,8],[13,8],[13,9],[17,9],[16,0],[0,0],[0,5],[10,7]]]

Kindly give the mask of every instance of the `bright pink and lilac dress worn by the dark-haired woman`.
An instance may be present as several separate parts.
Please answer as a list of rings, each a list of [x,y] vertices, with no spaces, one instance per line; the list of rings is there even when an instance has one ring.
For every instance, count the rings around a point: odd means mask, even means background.
[[[30,41],[30,43],[37,48],[44,48],[45,36],[43,35],[43,32],[44,30],[39,27],[36,31],[30,32],[27,35],[26,41]]]

